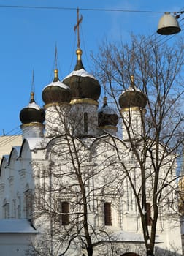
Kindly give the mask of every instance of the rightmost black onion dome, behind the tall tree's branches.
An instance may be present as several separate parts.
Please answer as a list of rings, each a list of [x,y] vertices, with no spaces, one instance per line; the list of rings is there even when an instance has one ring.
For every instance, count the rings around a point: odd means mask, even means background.
[[[147,99],[145,97],[145,94],[137,89],[134,84],[134,77],[131,76],[131,86],[129,86],[129,89],[127,89],[127,91],[123,91],[123,93],[119,97],[120,108],[145,108],[146,103]]]

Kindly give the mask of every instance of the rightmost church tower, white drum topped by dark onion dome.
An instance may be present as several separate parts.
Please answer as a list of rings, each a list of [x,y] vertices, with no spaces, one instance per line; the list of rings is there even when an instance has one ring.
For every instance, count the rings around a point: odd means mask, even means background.
[[[120,113],[123,121],[123,140],[137,139],[142,135],[142,121],[145,116],[147,99],[134,83],[131,75],[131,85],[119,97]]]

